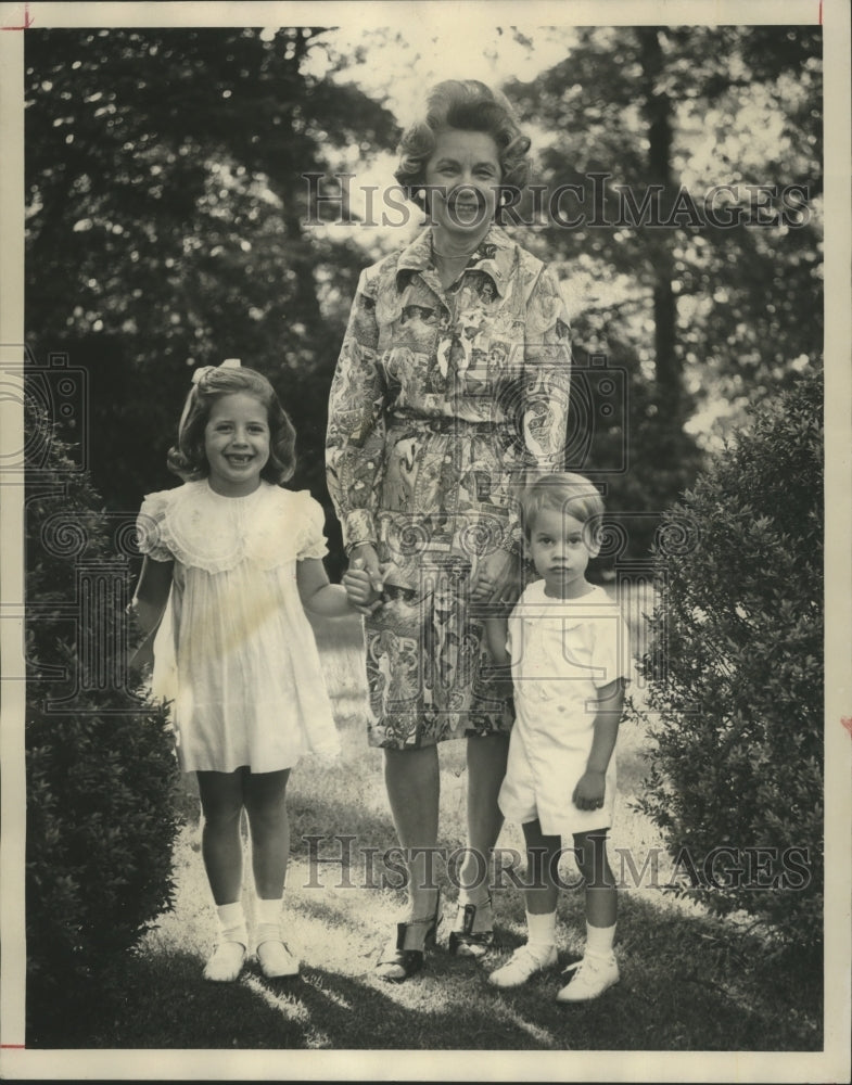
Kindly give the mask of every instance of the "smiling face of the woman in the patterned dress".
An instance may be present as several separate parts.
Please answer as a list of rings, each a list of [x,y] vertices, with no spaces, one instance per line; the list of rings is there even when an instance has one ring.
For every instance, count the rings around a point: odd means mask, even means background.
[[[446,128],[427,163],[425,183],[433,224],[456,234],[481,233],[497,209],[497,144],[485,132]]]

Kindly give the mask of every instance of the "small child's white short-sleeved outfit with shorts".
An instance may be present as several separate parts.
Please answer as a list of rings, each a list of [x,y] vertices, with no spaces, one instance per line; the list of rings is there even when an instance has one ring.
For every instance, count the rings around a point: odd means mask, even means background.
[[[627,628],[602,588],[580,599],[551,599],[531,584],[509,617],[516,720],[499,793],[504,815],[523,825],[538,818],[546,835],[569,837],[612,824],[615,755],[606,776],[603,808],[572,801],[595,736],[598,689],[630,678]]]

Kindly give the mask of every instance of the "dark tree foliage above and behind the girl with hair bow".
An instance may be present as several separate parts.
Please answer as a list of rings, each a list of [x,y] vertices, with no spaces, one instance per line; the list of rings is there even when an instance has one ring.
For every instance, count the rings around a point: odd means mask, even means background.
[[[356,87],[311,75],[318,52],[311,27],[27,36],[28,345],[88,369],[111,505],[175,482],[188,367],[226,357],[280,390],[300,423],[295,484],[325,494],[327,390],[364,256],[305,230],[302,175],[396,129]]]

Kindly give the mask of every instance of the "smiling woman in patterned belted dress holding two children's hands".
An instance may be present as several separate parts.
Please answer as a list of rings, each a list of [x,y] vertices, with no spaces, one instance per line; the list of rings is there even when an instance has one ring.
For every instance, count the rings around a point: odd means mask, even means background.
[[[450,949],[493,941],[491,852],[512,723],[484,608],[520,589],[517,495],[561,467],[568,317],[556,278],[494,225],[526,182],[530,140],[474,80],[433,88],[403,137],[396,179],[428,215],[360,277],[329,403],[329,492],[351,567],[381,602],[366,622],[372,718],[409,856],[409,912],[378,963],[402,981],[434,943],[437,743],[467,740],[467,858]]]

